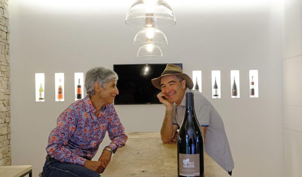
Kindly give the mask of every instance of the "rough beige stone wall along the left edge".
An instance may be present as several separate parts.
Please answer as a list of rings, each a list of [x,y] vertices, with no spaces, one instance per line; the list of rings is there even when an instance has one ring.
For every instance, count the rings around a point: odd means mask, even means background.
[[[8,0],[0,0],[0,166],[11,165]]]

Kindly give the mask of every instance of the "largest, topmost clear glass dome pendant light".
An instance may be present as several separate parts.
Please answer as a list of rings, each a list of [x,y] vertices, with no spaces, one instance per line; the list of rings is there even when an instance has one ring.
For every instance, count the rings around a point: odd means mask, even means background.
[[[163,0],[138,0],[129,8],[125,22],[133,27],[162,28],[175,25],[175,16]]]

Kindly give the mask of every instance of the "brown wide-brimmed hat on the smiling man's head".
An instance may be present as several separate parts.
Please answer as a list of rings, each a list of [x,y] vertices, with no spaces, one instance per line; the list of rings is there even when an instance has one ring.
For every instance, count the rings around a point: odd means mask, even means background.
[[[162,72],[162,74],[158,78],[152,79],[152,84],[154,85],[154,87],[156,87],[156,88],[158,88],[158,89],[161,90],[160,79],[163,76],[172,75],[172,74],[174,74],[176,76],[179,76],[182,79],[185,79],[186,80],[186,86],[189,89],[193,88],[194,84],[193,84],[192,79],[188,75],[186,75],[185,73],[183,73],[182,69],[179,66],[173,65],[173,64],[167,64],[164,72]]]

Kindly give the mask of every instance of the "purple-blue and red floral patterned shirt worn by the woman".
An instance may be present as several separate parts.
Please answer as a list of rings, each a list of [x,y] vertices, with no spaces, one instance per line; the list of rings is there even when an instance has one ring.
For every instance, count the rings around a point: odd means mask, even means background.
[[[113,104],[104,105],[98,117],[95,111],[88,95],[69,105],[50,132],[47,154],[61,162],[83,165],[95,156],[106,131],[113,152],[124,146],[128,137]]]

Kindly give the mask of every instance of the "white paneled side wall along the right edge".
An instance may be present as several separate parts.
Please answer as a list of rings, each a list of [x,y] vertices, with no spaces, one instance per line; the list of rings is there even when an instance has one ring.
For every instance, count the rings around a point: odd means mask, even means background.
[[[282,8],[282,68],[284,173],[302,174],[302,53],[301,0],[284,0]]]

